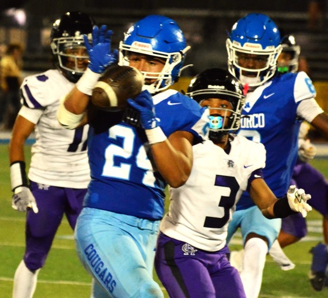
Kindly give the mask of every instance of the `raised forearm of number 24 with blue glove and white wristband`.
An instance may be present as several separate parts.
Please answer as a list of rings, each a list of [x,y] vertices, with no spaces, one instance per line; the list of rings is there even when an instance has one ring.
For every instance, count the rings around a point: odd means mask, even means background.
[[[107,66],[116,62],[117,50],[111,52],[111,36],[112,31],[103,25],[93,28],[92,45],[85,37],[90,62],[83,76],[60,103],[57,118],[63,127],[74,129],[84,121],[90,95],[98,78]]]

